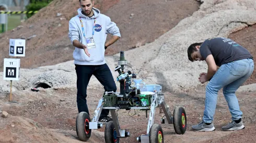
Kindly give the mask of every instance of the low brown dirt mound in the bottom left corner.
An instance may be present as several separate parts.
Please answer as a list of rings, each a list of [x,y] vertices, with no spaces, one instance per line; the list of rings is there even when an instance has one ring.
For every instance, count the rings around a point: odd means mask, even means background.
[[[0,120],[1,142],[57,142],[57,138],[33,120],[9,114]]]

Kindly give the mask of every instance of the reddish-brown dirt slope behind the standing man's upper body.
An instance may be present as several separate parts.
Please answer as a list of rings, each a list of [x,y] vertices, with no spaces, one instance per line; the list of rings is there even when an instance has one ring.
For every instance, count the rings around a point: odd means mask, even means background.
[[[180,20],[192,15],[200,4],[185,0],[97,0],[95,3],[95,7],[100,8],[102,14],[110,16],[121,31],[122,38],[106,50],[106,55],[153,42]],[[73,60],[74,47],[67,36],[68,21],[77,15],[78,7],[77,0],[55,0],[25,21],[22,27],[2,34],[0,59],[11,58],[8,56],[10,38],[25,38],[26,57],[21,57],[21,68]],[[58,17],[58,13],[62,15]],[[0,63],[2,67],[3,62]]]

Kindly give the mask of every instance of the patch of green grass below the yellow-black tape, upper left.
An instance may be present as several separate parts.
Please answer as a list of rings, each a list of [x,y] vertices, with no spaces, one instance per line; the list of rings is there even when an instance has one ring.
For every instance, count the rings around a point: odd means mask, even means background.
[[[20,23],[21,23],[20,15],[8,15],[8,31],[18,27]],[[2,24],[0,28],[1,28],[0,32],[2,33]],[[5,31],[5,24],[4,24],[4,31]]]

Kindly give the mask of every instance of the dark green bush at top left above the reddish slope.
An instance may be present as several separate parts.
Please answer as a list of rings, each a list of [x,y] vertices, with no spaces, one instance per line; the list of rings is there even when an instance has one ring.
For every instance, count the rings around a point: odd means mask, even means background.
[[[41,1],[40,0],[32,0],[32,1],[30,1],[30,4],[28,4],[26,6],[26,9],[27,9],[28,12],[29,11],[38,11],[41,8],[47,6],[52,1],[53,0],[45,0],[45,1],[43,1],[43,0],[41,0]],[[30,18],[33,14],[34,13],[32,13],[32,14],[27,13],[26,16],[27,16],[27,18]]]

